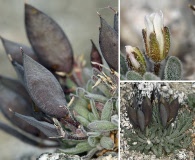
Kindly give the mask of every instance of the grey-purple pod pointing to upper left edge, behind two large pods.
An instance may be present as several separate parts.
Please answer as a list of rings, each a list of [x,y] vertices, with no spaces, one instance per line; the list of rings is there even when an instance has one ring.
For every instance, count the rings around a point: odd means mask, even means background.
[[[1,41],[3,43],[3,46],[5,48],[5,51],[8,55],[11,56],[13,61],[16,61],[18,64],[22,65],[22,54],[20,52],[20,47],[23,48],[24,52],[33,58],[35,61],[38,61],[37,55],[34,53],[33,49],[31,47],[25,46],[23,44],[15,43],[12,41],[9,41],[7,39],[4,39],[1,37]]]

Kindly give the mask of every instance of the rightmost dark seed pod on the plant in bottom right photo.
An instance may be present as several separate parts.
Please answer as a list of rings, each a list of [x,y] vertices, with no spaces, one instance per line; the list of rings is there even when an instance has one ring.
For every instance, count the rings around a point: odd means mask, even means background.
[[[176,116],[178,115],[178,110],[179,110],[179,101],[178,98],[176,98],[175,100],[173,100],[170,105],[169,105],[169,118],[168,118],[168,122],[174,122]]]

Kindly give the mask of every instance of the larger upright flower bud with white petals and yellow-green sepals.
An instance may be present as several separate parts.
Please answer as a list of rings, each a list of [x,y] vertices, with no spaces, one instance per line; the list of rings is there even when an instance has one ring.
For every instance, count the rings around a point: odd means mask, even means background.
[[[159,11],[145,17],[146,28],[142,30],[146,54],[154,62],[166,58],[170,48],[169,29],[163,25],[163,13]]]

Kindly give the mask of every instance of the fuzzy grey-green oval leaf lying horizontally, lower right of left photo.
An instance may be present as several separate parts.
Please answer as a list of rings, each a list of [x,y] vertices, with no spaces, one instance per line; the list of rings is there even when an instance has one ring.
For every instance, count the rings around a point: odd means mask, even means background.
[[[89,123],[88,127],[92,131],[112,131],[117,130],[117,126],[111,123],[110,121],[100,120]]]

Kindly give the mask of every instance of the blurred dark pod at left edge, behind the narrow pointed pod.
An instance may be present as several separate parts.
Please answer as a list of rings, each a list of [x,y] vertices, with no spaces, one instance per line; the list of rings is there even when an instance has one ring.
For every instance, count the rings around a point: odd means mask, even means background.
[[[20,82],[0,77],[0,110],[14,125],[27,133],[39,136],[39,130],[22,121],[20,118],[15,117],[12,112],[19,112],[28,116],[33,115],[31,99]]]

